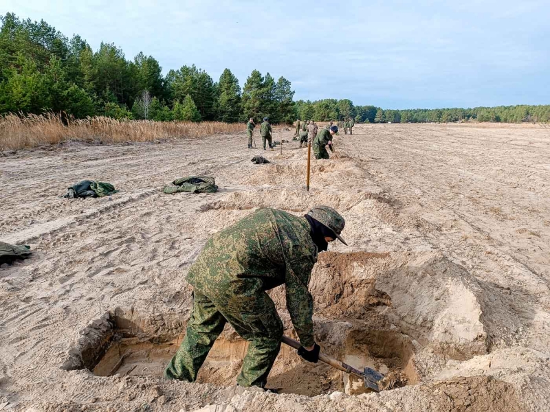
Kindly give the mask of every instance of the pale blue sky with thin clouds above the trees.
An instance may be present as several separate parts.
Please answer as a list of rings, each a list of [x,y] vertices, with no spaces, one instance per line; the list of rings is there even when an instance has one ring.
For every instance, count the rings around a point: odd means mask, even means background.
[[[295,99],[383,108],[550,104],[550,1],[2,0],[163,71],[195,64],[241,87],[285,76]]]

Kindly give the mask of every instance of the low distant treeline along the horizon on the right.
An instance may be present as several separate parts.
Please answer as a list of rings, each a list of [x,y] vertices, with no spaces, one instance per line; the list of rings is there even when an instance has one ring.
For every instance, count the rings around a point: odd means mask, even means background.
[[[300,119],[316,122],[349,117],[357,123],[550,122],[550,105],[384,110],[375,106],[354,106],[348,99],[325,99],[315,102],[298,100],[296,113]]]

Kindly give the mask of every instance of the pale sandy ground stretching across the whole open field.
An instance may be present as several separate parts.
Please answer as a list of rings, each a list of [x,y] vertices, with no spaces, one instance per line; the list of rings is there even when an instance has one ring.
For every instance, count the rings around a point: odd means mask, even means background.
[[[336,157],[313,162],[309,193],[306,150],[291,142],[254,165],[260,151],[242,134],[1,157],[0,240],[34,254],[0,268],[0,411],[550,411],[548,130],[358,125],[335,142]],[[220,191],[162,194],[188,174]],[[58,198],[83,179],[120,193]],[[346,218],[349,247],[331,244],[314,268],[316,339],[409,385],[348,396],[329,369],[285,350],[268,385],[293,393],[245,391],[232,385],[244,347],[230,330],[208,383],[61,369],[109,312],[139,339],[181,337],[184,277],[210,234],[256,207],[320,204]],[[283,291],[272,297],[292,334]]]

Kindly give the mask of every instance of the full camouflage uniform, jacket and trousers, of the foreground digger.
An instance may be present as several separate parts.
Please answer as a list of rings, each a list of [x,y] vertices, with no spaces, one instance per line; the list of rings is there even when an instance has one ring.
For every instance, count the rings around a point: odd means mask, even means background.
[[[263,387],[283,335],[283,323],[265,291],[281,284],[286,285],[287,309],[300,343],[314,345],[307,284],[318,249],[310,231],[304,217],[259,209],[206,242],[189,269],[192,314],[184,341],[164,371],[166,378],[195,381],[229,322],[249,342],[237,383]]]

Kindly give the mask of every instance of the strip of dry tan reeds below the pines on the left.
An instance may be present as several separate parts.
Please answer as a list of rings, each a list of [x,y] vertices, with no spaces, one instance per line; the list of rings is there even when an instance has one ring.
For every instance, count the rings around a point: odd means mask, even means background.
[[[237,133],[246,127],[241,123],[124,121],[110,117],[69,119],[67,123],[63,124],[61,116],[54,113],[1,115],[0,152],[59,144],[68,140],[116,144],[125,141],[194,139],[218,133]]]

